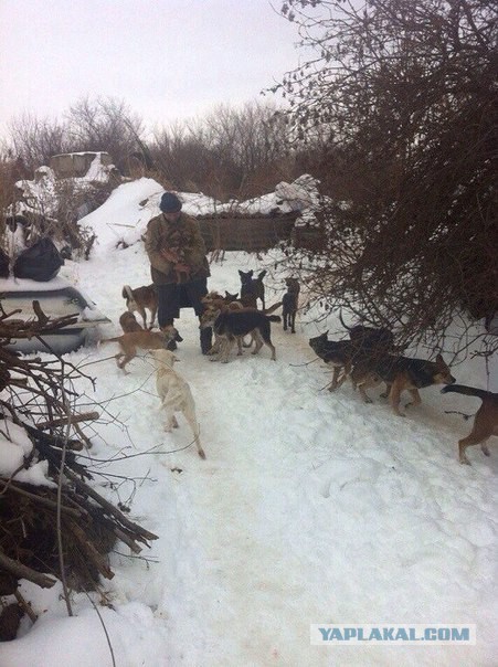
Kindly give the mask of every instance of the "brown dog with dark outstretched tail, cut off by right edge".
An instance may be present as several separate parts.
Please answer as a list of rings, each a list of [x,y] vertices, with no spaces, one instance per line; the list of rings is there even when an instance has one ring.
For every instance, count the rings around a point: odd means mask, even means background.
[[[465,449],[471,445],[479,444],[483,453],[489,456],[486,441],[491,435],[498,435],[498,393],[491,393],[484,389],[475,389],[474,387],[465,387],[465,384],[452,384],[444,387],[441,391],[444,394],[455,392],[457,394],[465,394],[466,396],[476,396],[483,401],[474,419],[473,430],[467,437],[458,441],[458,457],[460,463],[470,465]]]

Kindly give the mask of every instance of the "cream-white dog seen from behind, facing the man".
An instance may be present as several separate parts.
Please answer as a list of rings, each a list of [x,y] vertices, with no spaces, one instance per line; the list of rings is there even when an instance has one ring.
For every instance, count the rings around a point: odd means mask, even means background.
[[[169,350],[151,350],[156,364],[156,387],[162,406],[166,410],[167,422],[165,431],[178,428],[176,412],[183,413],[189,426],[192,428],[193,437],[198,448],[199,456],[205,458],[204,451],[199,437],[199,423],[195,416],[195,403],[188,382],[173,371],[173,364],[179,361]]]

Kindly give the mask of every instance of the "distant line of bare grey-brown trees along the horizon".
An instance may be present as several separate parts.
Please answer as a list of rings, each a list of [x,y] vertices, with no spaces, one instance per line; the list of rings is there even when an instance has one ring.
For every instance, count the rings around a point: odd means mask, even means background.
[[[272,103],[220,105],[204,118],[146,136],[142,119],[113,98],[82,98],[62,120],[22,115],[10,124],[3,159],[32,178],[54,155],[105,150],[124,176],[156,177],[166,187],[226,200],[253,197],[301,173],[300,155]]]

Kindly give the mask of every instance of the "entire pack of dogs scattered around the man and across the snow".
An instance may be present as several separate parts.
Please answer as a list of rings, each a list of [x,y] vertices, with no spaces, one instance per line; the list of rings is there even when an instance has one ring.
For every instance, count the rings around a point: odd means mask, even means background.
[[[272,342],[271,325],[283,321],[284,331],[295,334],[296,314],[299,309],[299,280],[294,277],[285,279],[286,292],[280,301],[266,308],[265,286],[262,271],[254,278],[254,272],[239,271],[241,286],[240,296],[225,292],[210,292],[203,297],[204,310],[200,318],[201,328],[212,328],[214,342],[209,354],[212,361],[227,363],[233,348],[237,354],[243,348],[254,348],[252,354],[257,354],[263,346],[271,351],[271,360],[276,360],[276,349]],[[174,413],[182,413],[190,425],[194,444],[201,458],[205,458],[200,442],[200,427],[195,415],[195,404],[189,384],[176,370],[173,364],[179,359],[168,349],[171,341],[182,338],[173,326],[152,331],[158,310],[157,293],[153,285],[133,289],[129,285],[123,287],[123,298],[127,310],[119,317],[123,335],[102,340],[116,342],[119,352],[115,356],[118,368],[126,371],[126,366],[141,351],[149,352],[156,369],[156,385],[161,405],[167,415],[165,430],[178,427]],[[261,304],[261,309],[257,306]],[[282,307],[282,317],[273,313]],[[150,313],[147,326],[147,311]],[[135,316],[137,313],[144,322],[140,325]],[[425,360],[402,354],[394,340],[394,334],[383,327],[356,325],[348,327],[340,317],[348,338],[329,340],[328,331],[309,339],[309,346],[327,367],[332,370],[332,378],[327,385],[330,392],[339,389],[349,378],[354,390],[365,403],[372,403],[367,390],[385,385],[381,396],[388,398],[393,413],[405,416],[401,409],[403,392],[411,395],[405,407],[422,403],[420,390],[443,384],[442,393],[459,393],[480,399],[471,432],[458,442],[458,458],[462,464],[470,465],[466,449],[480,445],[483,453],[489,456],[487,441],[498,435],[498,393],[481,389],[456,384],[451,369],[441,354],[434,360]]]

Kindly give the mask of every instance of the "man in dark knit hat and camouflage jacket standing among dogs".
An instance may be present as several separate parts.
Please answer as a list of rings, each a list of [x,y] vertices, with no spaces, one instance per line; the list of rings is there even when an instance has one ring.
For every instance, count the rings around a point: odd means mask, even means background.
[[[182,213],[181,207],[173,192],[165,192],[159,204],[161,214],[147,225],[146,251],[158,293],[160,327],[172,325],[182,307],[191,307],[201,316],[201,299],[208,294],[211,275],[199,223]],[[211,349],[211,329],[201,329],[203,354]]]

